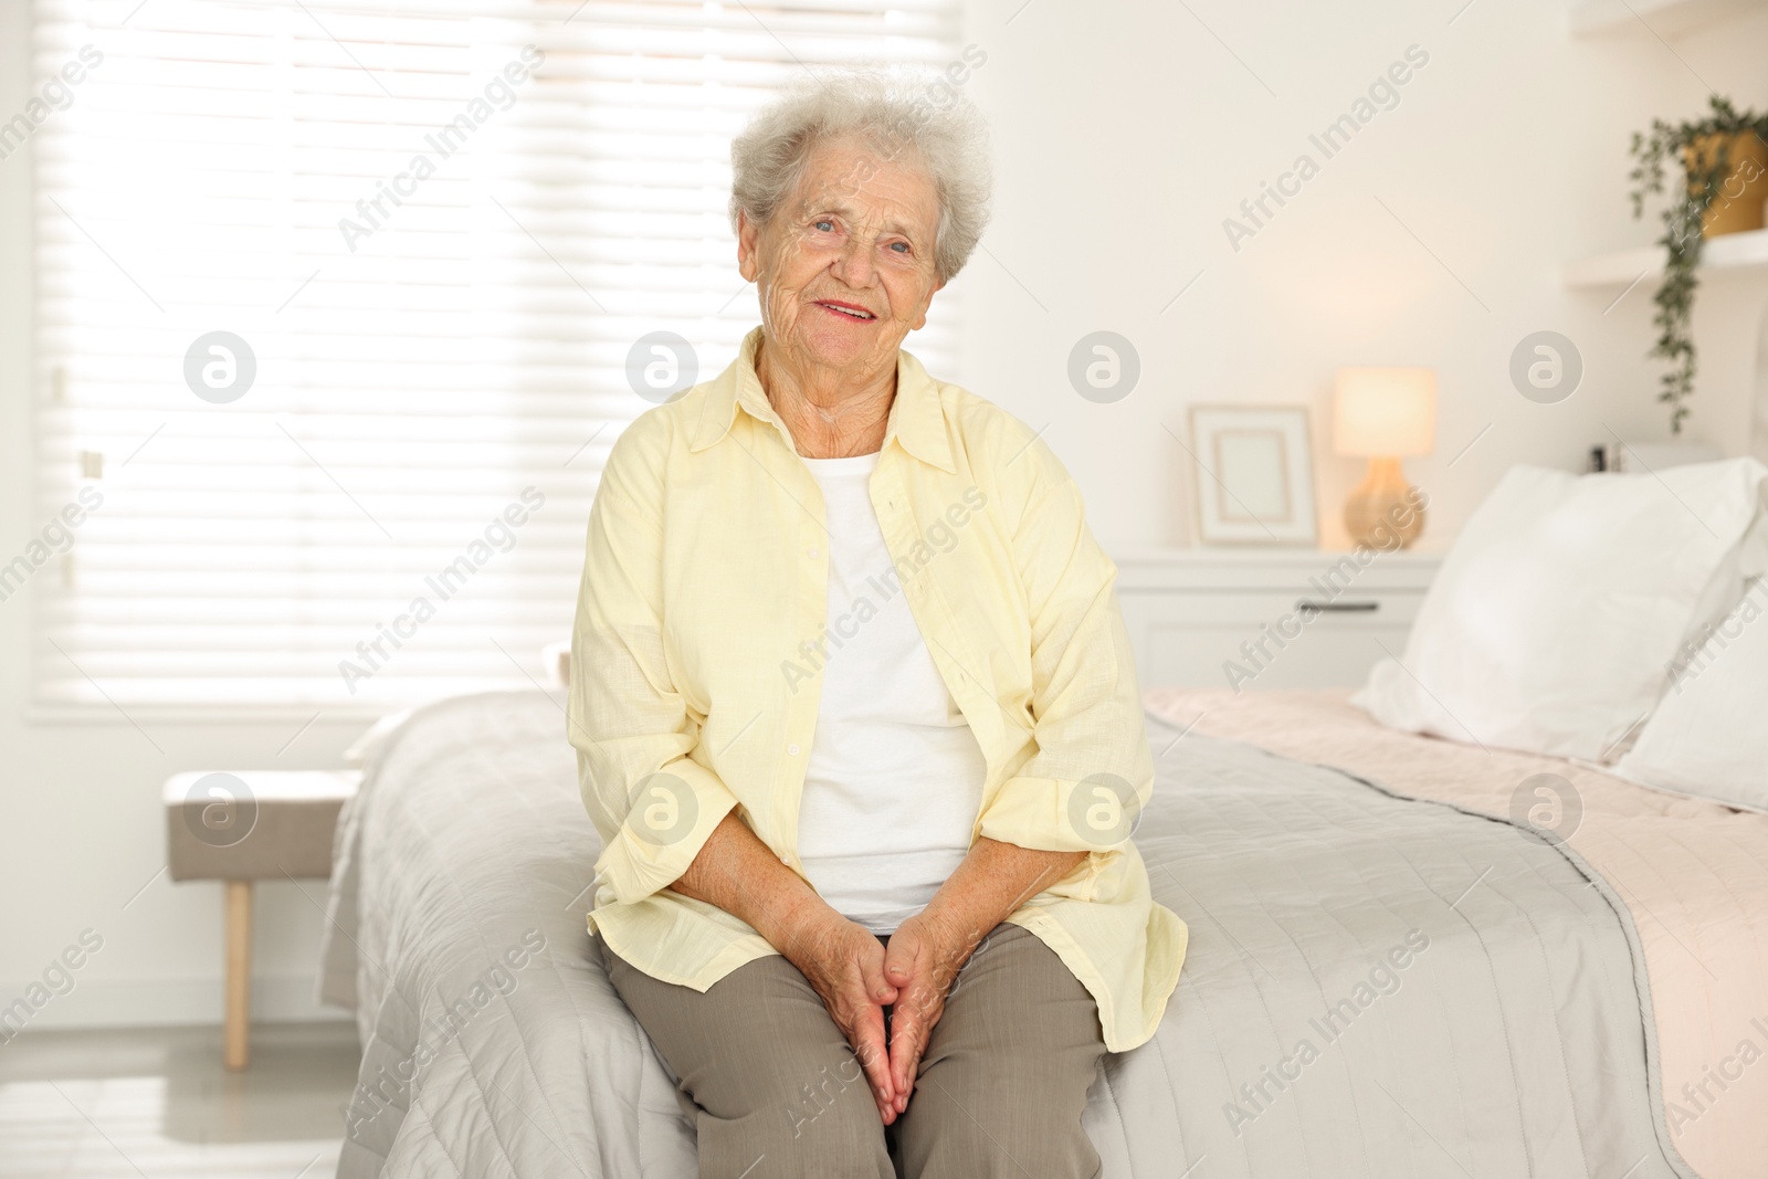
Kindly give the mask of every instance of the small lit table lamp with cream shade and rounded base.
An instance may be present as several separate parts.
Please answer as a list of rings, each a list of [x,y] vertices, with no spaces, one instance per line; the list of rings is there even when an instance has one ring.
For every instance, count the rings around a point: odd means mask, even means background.
[[[1436,369],[1342,368],[1333,385],[1333,442],[1338,454],[1367,458],[1344,504],[1353,544],[1407,548],[1425,529],[1400,460],[1436,447]]]

